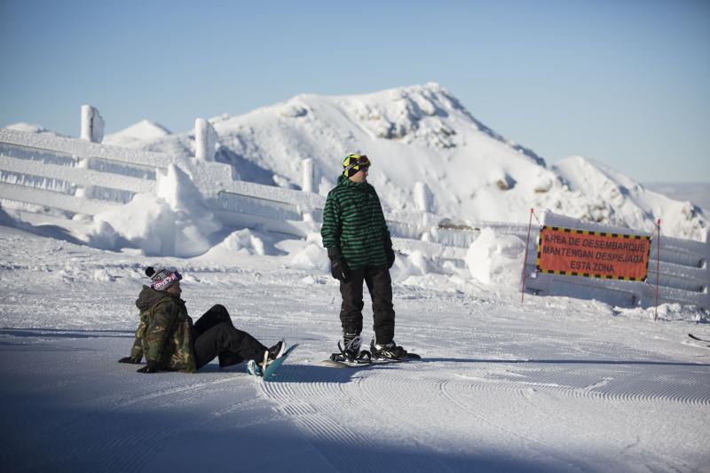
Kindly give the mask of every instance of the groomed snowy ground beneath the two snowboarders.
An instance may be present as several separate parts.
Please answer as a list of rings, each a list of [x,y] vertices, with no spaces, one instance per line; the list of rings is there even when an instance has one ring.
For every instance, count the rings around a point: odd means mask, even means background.
[[[156,262],[0,226],[4,470],[706,469],[710,349],[686,343],[710,339],[704,312],[664,305],[654,323],[425,273],[394,287],[396,339],[422,362],[339,370],[318,363],[340,333],[335,281],[292,259],[304,242],[275,245]],[[264,343],[301,343],[276,380],[116,363],[155,263],[185,274],[194,318],[225,304]]]

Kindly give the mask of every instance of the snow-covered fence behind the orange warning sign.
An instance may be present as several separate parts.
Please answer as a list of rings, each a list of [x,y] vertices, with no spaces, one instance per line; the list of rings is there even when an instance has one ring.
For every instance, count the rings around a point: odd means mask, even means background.
[[[606,233],[635,233],[628,228],[597,225],[570,217],[563,217],[552,212],[544,212],[542,225],[575,228]],[[528,248],[525,262],[527,280],[526,292],[541,296],[572,296],[583,299],[596,299],[621,307],[641,305],[650,307],[656,304],[656,283],[659,285],[659,304],[682,303],[710,307],[710,239],[705,234],[704,241],[682,240],[663,235],[661,227],[660,252],[658,236],[651,240],[651,256],[648,279],[645,282],[625,280],[605,280],[582,276],[563,276],[543,274],[536,271],[537,247],[540,228],[535,227]],[[660,255],[660,258],[659,258]],[[659,274],[657,277],[657,267]]]

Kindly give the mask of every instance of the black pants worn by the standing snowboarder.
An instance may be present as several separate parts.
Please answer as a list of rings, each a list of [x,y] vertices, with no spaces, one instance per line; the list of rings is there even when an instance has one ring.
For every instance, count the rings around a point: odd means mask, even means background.
[[[351,270],[347,282],[341,281],[340,323],[343,334],[362,332],[362,282],[367,284],[372,298],[373,330],[375,343],[389,343],[394,338],[394,306],[392,305],[392,280],[387,266],[366,266]]]

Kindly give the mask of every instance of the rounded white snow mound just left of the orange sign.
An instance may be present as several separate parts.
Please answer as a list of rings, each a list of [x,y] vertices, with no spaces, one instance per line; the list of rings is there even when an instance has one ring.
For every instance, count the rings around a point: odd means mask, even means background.
[[[518,287],[525,258],[525,242],[484,228],[466,252],[471,276],[484,284]]]

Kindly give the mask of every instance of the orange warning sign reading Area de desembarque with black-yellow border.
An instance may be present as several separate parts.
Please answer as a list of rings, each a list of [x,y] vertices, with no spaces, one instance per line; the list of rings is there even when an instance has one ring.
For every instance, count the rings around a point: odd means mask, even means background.
[[[651,237],[542,226],[539,272],[607,280],[646,280]]]

